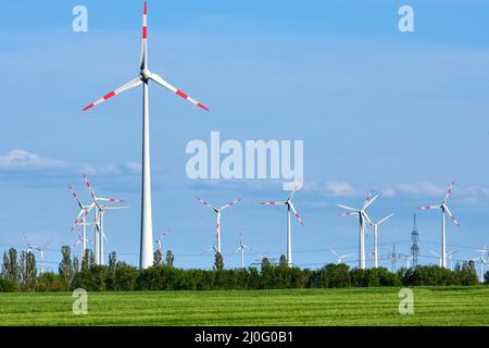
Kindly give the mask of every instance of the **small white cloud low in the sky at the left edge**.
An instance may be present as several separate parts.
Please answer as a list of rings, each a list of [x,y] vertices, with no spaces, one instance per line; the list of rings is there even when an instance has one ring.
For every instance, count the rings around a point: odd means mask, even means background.
[[[68,163],[40,157],[39,154],[25,150],[11,150],[0,156],[0,170],[46,170],[65,169]]]

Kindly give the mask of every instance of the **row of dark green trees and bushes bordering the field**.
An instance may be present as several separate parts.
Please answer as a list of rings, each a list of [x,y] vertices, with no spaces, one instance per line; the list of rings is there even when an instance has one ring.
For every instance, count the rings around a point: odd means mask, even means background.
[[[474,261],[457,263],[454,271],[437,265],[418,265],[390,272],[385,268],[350,269],[344,263],[326,264],[318,270],[289,268],[285,256],[278,264],[263,258],[260,269],[224,269],[221,253],[215,254],[212,270],[177,269],[174,256],[165,258],[160,250],[154,264],[140,271],[118,261],[115,252],[109,254],[106,265],[95,264],[91,250],[83,260],[71,254],[67,246],[61,249],[58,273],[38,275],[36,258],[30,251],[17,254],[14,248],[5,251],[0,275],[0,291],[68,291],[84,288],[92,291],[133,290],[230,290],[230,289],[285,289],[285,288],[341,288],[377,286],[438,286],[478,285]],[[489,285],[489,271],[485,274]]]

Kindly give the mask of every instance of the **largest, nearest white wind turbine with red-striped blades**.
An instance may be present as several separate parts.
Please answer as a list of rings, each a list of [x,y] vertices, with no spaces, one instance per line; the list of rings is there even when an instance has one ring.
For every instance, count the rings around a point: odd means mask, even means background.
[[[148,97],[148,82],[152,79],[156,84],[170,89],[177,96],[188,100],[192,104],[209,111],[203,104],[190,98],[187,94],[168,84],[161,76],[150,72],[148,69],[148,4],[145,1],[145,9],[142,14],[142,45],[139,76],[129,80],[117,89],[106,94],[102,98],[93,101],[91,104],[85,107],[83,111],[87,111],[101,102],[122,94],[133,87],[142,84],[142,194],[141,194],[141,239],[140,239],[140,257],[139,268],[147,269],[153,264],[153,227],[152,227],[152,210],[151,210],[151,169],[150,169],[150,134],[149,134],[149,97]]]

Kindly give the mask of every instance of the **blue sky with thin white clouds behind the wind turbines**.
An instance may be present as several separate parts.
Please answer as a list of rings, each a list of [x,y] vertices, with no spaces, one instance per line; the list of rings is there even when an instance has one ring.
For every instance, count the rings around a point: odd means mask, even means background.
[[[88,33],[74,33],[72,9],[88,9]],[[411,4],[415,33],[398,30]],[[0,250],[52,239],[73,245],[82,173],[101,196],[130,209],[106,214],[109,243],[137,264],[140,224],[141,90],[82,113],[96,98],[138,74],[142,1],[0,3]],[[150,87],[154,233],[179,266],[209,268],[214,204],[241,197],[223,214],[223,250],[244,243],[277,258],[285,252],[285,211],[261,207],[286,196],[277,181],[205,182],[185,174],[192,139],[304,140],[303,190],[294,204],[293,260],[316,268],[356,252],[354,220],[337,203],[360,206],[369,188],[381,197],[380,252],[408,252],[412,214],[437,203],[457,179],[448,224],[456,259],[489,243],[489,24],[487,1],[149,1],[150,69],[210,108],[203,113]],[[422,254],[439,250],[437,212],[418,213]],[[372,239],[368,239],[368,248]],[[248,256],[247,262],[258,259]],[[354,259],[354,258],[353,258]],[[436,262],[423,258],[423,262]],[[228,266],[238,257],[226,257]],[[383,261],[389,265],[389,261]]]

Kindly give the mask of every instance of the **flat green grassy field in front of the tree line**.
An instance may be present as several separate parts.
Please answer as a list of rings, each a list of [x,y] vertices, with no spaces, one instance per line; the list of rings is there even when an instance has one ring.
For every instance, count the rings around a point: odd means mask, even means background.
[[[399,288],[0,294],[0,325],[489,325],[489,287],[413,290],[413,315]]]

